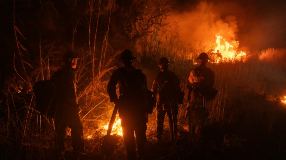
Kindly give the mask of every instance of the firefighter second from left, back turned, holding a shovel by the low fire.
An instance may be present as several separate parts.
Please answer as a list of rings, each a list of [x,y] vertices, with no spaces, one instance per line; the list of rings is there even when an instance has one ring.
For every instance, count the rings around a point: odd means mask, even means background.
[[[113,102],[118,108],[128,159],[142,159],[145,153],[145,142],[147,141],[147,78],[140,69],[132,66],[135,59],[137,58],[131,50],[124,50],[120,56],[124,67],[116,69],[107,84],[110,102]],[[117,84],[119,84],[119,97],[116,94]]]

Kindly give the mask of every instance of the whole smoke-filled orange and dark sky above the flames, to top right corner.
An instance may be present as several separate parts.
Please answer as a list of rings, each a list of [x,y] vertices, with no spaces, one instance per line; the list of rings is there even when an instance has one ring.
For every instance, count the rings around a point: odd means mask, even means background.
[[[240,50],[286,47],[286,3],[275,1],[174,1],[170,20],[180,20],[180,38],[211,49],[215,35],[237,40]]]

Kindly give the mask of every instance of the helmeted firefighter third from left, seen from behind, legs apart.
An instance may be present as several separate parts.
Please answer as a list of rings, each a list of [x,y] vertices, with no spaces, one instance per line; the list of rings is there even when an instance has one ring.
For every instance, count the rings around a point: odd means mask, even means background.
[[[162,139],[164,117],[167,114],[169,119],[169,139],[174,141],[177,136],[178,121],[178,103],[174,94],[180,90],[180,82],[176,74],[169,71],[169,60],[166,57],[159,59],[158,66],[161,72],[155,77],[151,89],[153,96],[157,98],[156,134],[152,138],[154,140]]]

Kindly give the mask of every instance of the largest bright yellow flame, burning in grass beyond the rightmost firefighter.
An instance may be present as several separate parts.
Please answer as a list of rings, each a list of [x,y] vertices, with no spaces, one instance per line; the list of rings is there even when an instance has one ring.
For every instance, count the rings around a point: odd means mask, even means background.
[[[222,36],[216,35],[216,48],[213,50],[215,63],[241,61],[246,57],[243,51],[238,52],[238,41],[227,42]]]

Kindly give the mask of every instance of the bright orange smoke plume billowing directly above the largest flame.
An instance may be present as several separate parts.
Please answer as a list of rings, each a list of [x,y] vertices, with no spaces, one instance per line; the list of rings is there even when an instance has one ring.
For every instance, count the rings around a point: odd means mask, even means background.
[[[222,19],[218,11],[215,5],[201,2],[191,11],[174,13],[170,20],[180,21],[179,37],[183,42],[208,51],[214,49],[216,35],[222,36],[226,41],[237,40],[236,17],[227,15]]]

